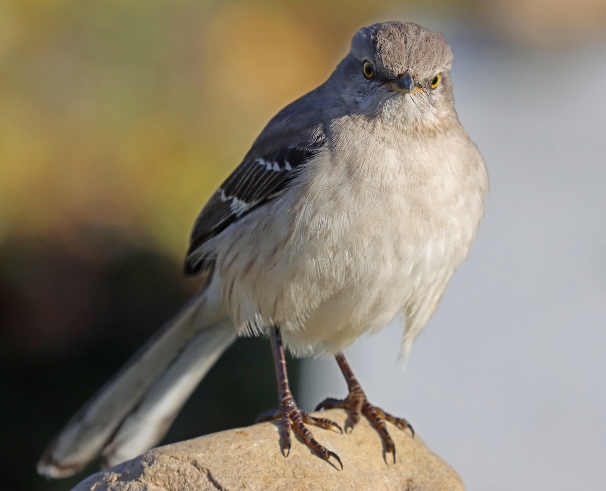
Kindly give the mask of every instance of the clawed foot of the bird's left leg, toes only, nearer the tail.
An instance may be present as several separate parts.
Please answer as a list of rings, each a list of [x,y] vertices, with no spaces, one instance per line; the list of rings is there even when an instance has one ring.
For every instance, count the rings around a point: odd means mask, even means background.
[[[288,456],[288,453],[290,453],[290,427],[292,426],[299,437],[301,437],[301,440],[303,440],[310,449],[316,452],[324,460],[330,460],[330,457],[334,457],[339,463],[339,466],[341,466],[341,470],[343,469],[343,464],[341,463],[339,456],[332,450],[328,450],[322,444],[318,443],[318,441],[313,438],[310,430],[305,426],[305,423],[313,424],[326,429],[338,429],[339,432],[342,433],[343,430],[341,426],[335,423],[335,421],[329,420],[328,418],[316,418],[309,413],[302,411],[297,407],[295,399],[291,395],[282,398],[279,409],[265,411],[257,417],[257,423],[273,420],[281,420],[282,423],[282,453],[284,453],[284,456]]]

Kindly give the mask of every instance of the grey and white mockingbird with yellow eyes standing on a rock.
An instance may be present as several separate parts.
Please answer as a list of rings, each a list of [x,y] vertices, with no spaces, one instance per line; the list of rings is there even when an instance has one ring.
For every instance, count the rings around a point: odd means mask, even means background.
[[[393,453],[385,420],[342,355],[395,318],[402,355],[467,257],[482,218],[484,161],[454,110],[451,48],[439,33],[385,22],[356,32],[324,84],[267,124],[202,209],[185,259],[199,294],[72,418],[38,470],[59,477],[100,454],[107,464],[157,444],[238,335],[268,335],[278,377],[282,446],[290,429],[325,460],[338,456],[305,424],[284,347],[335,355],[349,393],[319,407],[364,414]]]

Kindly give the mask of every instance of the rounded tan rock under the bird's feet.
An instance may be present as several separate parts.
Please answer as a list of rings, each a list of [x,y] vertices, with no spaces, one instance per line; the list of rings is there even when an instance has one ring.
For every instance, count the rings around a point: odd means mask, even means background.
[[[319,414],[345,424],[343,410]],[[348,435],[311,429],[341,457],[342,471],[294,435],[284,458],[277,425],[262,423],[150,450],[93,474],[73,491],[464,491],[456,472],[408,431],[389,428],[396,444],[394,464],[391,455],[384,458],[381,438],[364,418]]]

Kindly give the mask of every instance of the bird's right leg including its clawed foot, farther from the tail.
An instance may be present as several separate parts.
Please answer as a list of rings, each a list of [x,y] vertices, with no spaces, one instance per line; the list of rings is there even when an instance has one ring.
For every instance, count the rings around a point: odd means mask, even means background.
[[[391,437],[387,431],[387,426],[385,425],[385,421],[390,421],[390,423],[395,424],[400,429],[410,429],[415,436],[415,431],[412,426],[408,424],[408,421],[403,418],[396,418],[392,416],[388,412],[385,412],[380,407],[373,406],[366,399],[366,394],[364,394],[364,390],[360,387],[358,380],[356,380],[355,375],[351,371],[351,367],[345,360],[345,357],[342,353],[335,355],[335,359],[339,364],[339,368],[345,377],[345,381],[347,382],[347,388],[349,389],[349,394],[345,399],[333,399],[327,398],[316,406],[316,411],[319,409],[332,409],[333,407],[342,407],[344,409],[349,410],[349,421],[348,428],[353,431],[353,428],[358,424],[360,420],[360,414],[363,413],[365,417],[368,418],[370,423],[376,428],[381,435],[383,442],[385,443],[385,450],[387,453],[393,454],[393,461],[396,461],[396,446],[391,440]],[[345,428],[347,431],[347,428]]]

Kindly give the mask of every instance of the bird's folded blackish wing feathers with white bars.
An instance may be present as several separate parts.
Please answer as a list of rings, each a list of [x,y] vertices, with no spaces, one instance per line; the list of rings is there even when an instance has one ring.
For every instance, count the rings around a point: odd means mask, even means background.
[[[282,147],[271,145],[274,148],[265,152],[258,148],[267,149],[269,145],[253,145],[242,163],[210,197],[191,232],[186,274],[198,274],[206,268],[207,258],[196,255],[196,249],[231,223],[282,194],[326,140],[321,125],[298,137]]]

